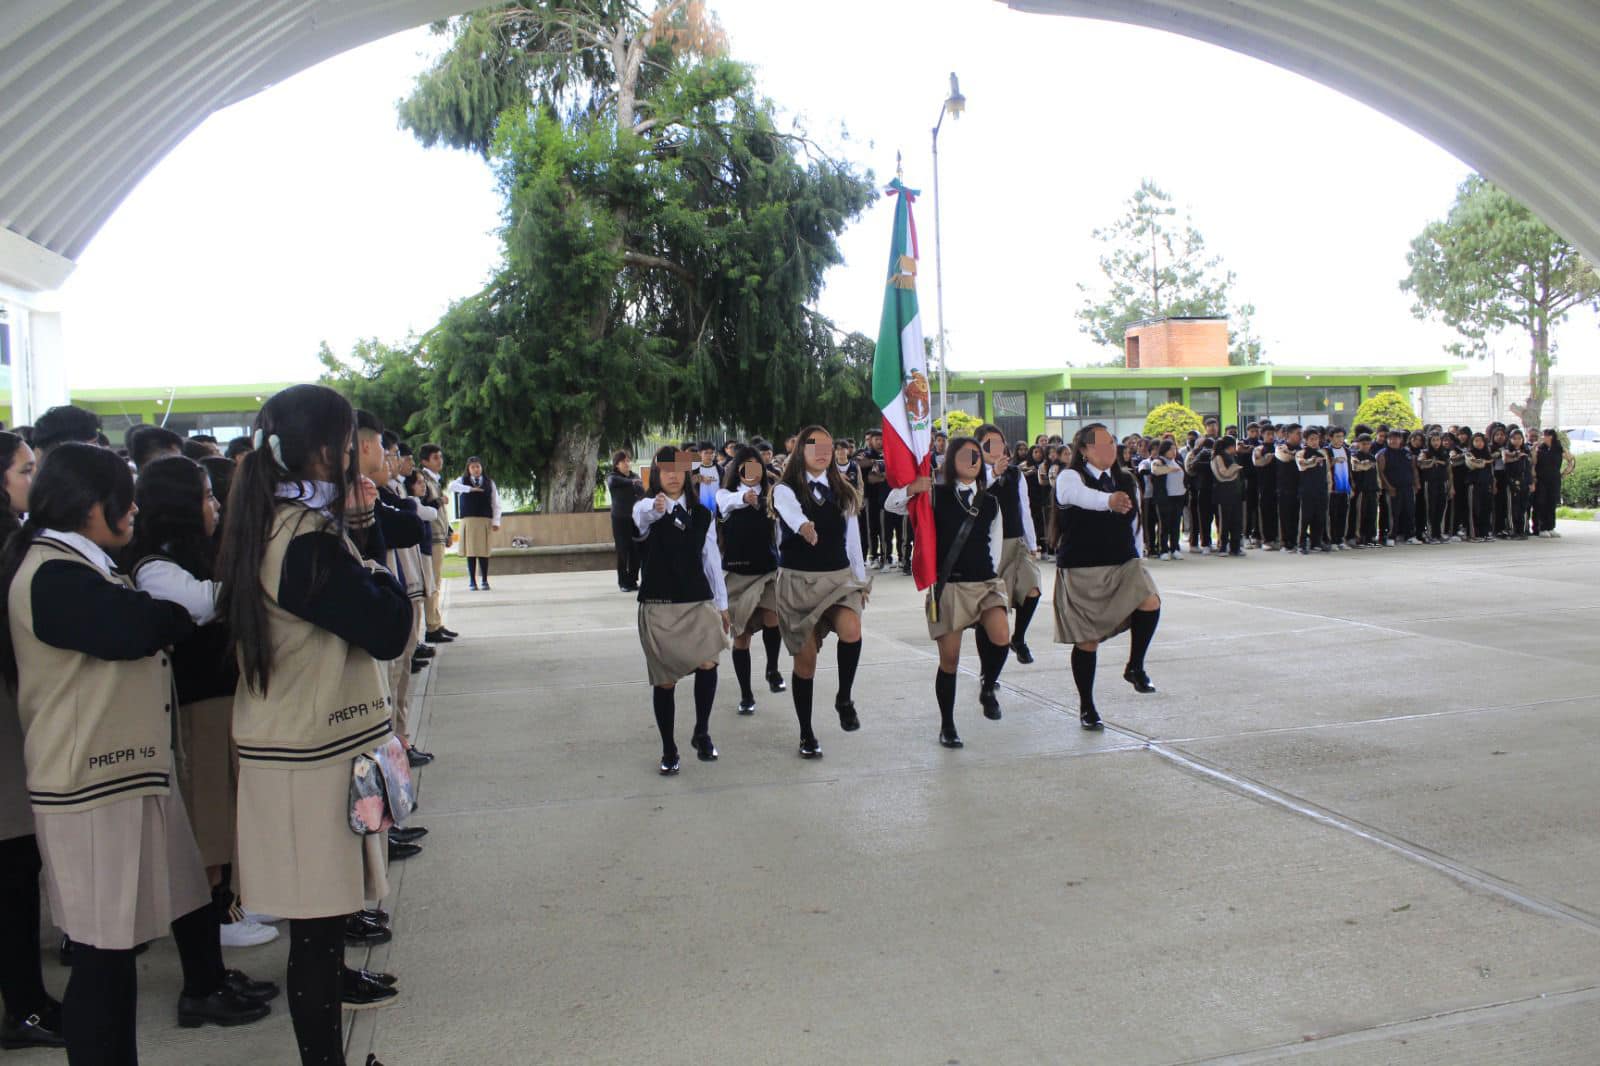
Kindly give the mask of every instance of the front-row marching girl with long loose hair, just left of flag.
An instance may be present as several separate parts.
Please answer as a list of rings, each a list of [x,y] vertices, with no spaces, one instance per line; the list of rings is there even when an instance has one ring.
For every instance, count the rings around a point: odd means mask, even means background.
[[[773,488],[773,511],[779,520],[778,626],[794,656],[789,695],[800,723],[802,759],[822,757],[811,730],[811,687],[816,656],[829,632],[838,635],[834,711],[846,733],[861,728],[851,688],[861,664],[861,611],[872,592],[853,520],[861,506],[856,490],[834,466],[834,439],[827,429],[806,426],[795,434],[794,451]]]

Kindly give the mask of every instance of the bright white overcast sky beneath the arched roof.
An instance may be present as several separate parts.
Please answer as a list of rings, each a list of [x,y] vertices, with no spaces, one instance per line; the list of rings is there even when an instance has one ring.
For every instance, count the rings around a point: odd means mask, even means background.
[[[715,3],[763,93],[880,182],[906,157],[923,189],[933,312],[930,128],[950,70],[968,112],[939,134],[944,309],[957,368],[1112,355],[1078,333],[1096,226],[1139,179],[1187,208],[1256,304],[1267,362],[1446,359],[1453,333],[1398,290],[1410,238],[1467,166],[1298,75],[1155,30],[1030,16],[992,0]],[[203,384],[315,378],[317,346],[402,341],[480,288],[498,259],[486,166],[419,147],[395,101],[438,43],[418,29],[334,58],[213,115],[94,238],[62,293],[69,381]],[[848,138],[842,136],[848,130]],[[874,333],[890,208],[843,237],[822,311]],[[1590,317],[1560,370],[1600,373]],[[1506,338],[1501,370],[1526,368]],[[1483,367],[1486,370],[1488,367]]]

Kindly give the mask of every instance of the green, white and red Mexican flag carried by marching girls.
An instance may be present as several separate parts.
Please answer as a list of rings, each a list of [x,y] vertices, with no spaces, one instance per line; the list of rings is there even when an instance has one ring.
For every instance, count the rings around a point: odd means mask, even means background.
[[[910,214],[917,190],[896,178],[888,192],[896,200],[894,235],[890,238],[878,347],[872,355],[872,399],[883,411],[883,466],[890,488],[899,488],[933,472],[933,389],[928,387],[917,312],[917,222]],[[915,538],[912,576],[918,589],[926,589],[939,576],[933,501],[926,493],[912,498],[910,525]]]

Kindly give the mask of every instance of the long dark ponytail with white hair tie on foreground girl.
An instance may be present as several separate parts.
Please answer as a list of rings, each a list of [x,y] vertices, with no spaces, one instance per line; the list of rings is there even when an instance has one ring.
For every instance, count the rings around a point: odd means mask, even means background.
[[[334,485],[328,501],[330,525],[344,530],[344,496],[355,477],[355,411],[349,400],[323,386],[290,386],[269,399],[254,426],[256,448],[238,464],[227,493],[222,552],[216,573],[222,581],[218,605],[234,634],[242,658],[242,679],[261,695],[272,675],[272,643],[267,626],[261,562],[278,519],[278,485],[309,482],[312,471],[328,466]],[[54,463],[54,455],[50,456]],[[312,594],[326,575],[312,571]]]

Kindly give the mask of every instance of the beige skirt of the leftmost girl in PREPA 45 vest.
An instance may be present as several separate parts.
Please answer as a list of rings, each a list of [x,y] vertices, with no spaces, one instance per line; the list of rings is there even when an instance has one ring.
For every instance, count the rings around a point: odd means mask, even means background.
[[[35,813],[50,914],[72,940],[138,948],[211,903],[189,816],[176,795]]]

